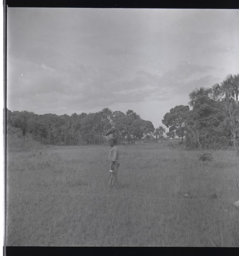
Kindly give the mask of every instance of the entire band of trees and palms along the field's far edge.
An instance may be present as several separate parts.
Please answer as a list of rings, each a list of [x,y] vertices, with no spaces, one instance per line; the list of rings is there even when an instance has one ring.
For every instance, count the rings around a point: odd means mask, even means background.
[[[178,105],[163,116],[167,138],[181,138],[188,149],[236,148],[239,143],[239,74],[228,74],[212,88],[200,87],[190,94],[188,105]],[[190,107],[191,106],[191,110]],[[103,108],[96,113],[42,114],[7,109],[7,136],[31,136],[42,144],[106,144],[109,128],[118,130],[118,143],[134,144],[141,138],[163,142],[165,128],[154,128],[133,110],[126,113]]]

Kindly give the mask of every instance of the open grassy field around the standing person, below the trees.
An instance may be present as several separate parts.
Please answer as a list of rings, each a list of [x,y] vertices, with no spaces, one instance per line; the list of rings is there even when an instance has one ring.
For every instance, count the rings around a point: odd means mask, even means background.
[[[202,162],[161,144],[118,149],[119,190],[108,146],[8,152],[6,245],[239,246],[234,151]]]

